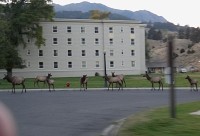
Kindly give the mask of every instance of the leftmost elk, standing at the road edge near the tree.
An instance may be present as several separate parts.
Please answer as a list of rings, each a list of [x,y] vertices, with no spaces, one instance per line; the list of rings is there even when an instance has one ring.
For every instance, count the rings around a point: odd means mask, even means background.
[[[12,93],[15,93],[15,85],[22,85],[22,93],[23,90],[25,90],[26,93],[26,87],[25,87],[25,79],[23,77],[18,77],[18,76],[10,76],[10,75],[5,75],[3,78],[4,80],[7,80],[9,83],[12,84]]]

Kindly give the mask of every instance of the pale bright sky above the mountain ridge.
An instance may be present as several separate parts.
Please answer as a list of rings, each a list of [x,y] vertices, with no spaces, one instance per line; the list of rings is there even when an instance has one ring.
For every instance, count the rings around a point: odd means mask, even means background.
[[[53,0],[66,5],[88,1],[121,10],[148,10],[181,26],[200,27],[200,0]]]

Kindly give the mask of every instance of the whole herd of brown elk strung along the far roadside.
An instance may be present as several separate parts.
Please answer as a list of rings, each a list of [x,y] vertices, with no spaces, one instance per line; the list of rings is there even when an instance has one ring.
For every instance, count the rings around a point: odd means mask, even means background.
[[[54,80],[51,79],[52,74],[48,73],[47,76],[37,76],[34,80],[34,87],[37,85],[39,87],[39,82],[42,82],[43,85],[45,86],[46,84],[48,85],[49,91],[51,92],[52,90],[55,91],[54,87]],[[160,76],[150,76],[148,72],[146,71],[142,77],[146,77],[146,79],[151,83],[151,90],[156,90],[154,84],[157,83],[159,85],[158,90],[163,91],[163,81],[162,77]],[[123,90],[123,87],[126,87],[126,81],[125,81],[125,76],[123,74],[120,75],[115,75],[115,72],[111,72],[111,75],[105,75],[103,76],[105,81],[108,83],[108,88],[107,90],[110,89],[110,86],[112,86],[113,90],[113,85],[115,84],[118,90]],[[19,77],[19,76],[10,76],[10,75],[4,75],[4,80],[7,80],[9,83],[12,84],[12,93],[15,93],[15,86],[16,85],[21,85],[22,86],[22,92],[26,93],[26,86],[25,86],[25,78],[24,77]],[[84,91],[87,90],[88,88],[88,76],[83,75],[80,78],[80,91],[83,89]],[[192,79],[190,76],[186,76],[185,79],[188,80],[191,91],[198,91],[198,81],[196,79]],[[51,90],[52,87],[52,90]]]

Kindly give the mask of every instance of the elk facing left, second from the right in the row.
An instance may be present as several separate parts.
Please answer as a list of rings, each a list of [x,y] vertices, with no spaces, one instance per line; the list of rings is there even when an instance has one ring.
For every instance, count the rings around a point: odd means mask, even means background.
[[[152,85],[151,90],[155,90],[154,83],[158,83],[159,84],[158,90],[160,90],[160,86],[162,86],[162,91],[163,91],[163,83],[162,83],[161,77],[150,77],[149,74],[147,73],[147,71],[146,71],[145,75],[143,75],[143,77],[146,77],[147,80],[149,80],[151,82],[151,85]]]

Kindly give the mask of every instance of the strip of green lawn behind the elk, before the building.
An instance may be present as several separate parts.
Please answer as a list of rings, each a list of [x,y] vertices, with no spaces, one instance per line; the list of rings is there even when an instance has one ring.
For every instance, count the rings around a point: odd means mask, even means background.
[[[200,79],[199,73],[187,73],[192,78]],[[188,81],[185,79],[187,74],[178,73],[175,74],[175,86],[177,87],[189,87]],[[158,76],[158,74],[150,74],[151,76]],[[163,77],[164,87],[167,87],[168,84],[165,83],[164,75],[159,75]],[[66,82],[70,82],[70,88],[79,88],[80,87],[80,77],[52,77],[55,80],[55,88],[65,88]],[[144,88],[151,87],[150,82],[143,77],[142,75],[127,75],[125,77],[126,84],[128,88]],[[47,88],[47,86],[43,86],[43,83],[39,83],[39,88]],[[26,88],[38,88],[34,87],[34,79],[28,78],[25,82]],[[158,84],[155,84],[158,87]],[[103,88],[104,87],[104,79],[100,76],[89,77],[88,88]],[[0,89],[9,89],[11,88],[11,84],[7,81],[0,79]],[[21,86],[16,86],[16,88],[21,88]]]

